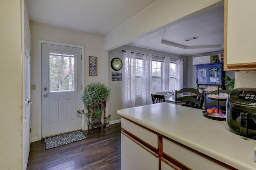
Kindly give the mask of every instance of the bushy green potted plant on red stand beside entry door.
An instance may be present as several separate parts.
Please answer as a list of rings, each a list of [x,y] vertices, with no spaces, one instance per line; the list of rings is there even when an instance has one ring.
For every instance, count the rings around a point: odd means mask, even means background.
[[[104,83],[92,82],[84,87],[82,94],[83,103],[87,109],[87,113],[84,110],[78,110],[78,114],[84,114],[88,120],[92,117],[92,105],[94,104],[94,121],[89,123],[89,126],[98,125],[101,123],[101,117],[104,111],[102,102],[107,101],[110,98],[111,90],[106,87]],[[106,117],[106,125],[109,125],[111,115]]]

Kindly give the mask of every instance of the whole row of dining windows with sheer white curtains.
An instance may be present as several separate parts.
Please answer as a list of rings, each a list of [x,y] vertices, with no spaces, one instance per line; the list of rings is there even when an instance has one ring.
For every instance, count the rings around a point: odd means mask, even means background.
[[[131,105],[134,103],[132,98],[135,100],[135,97],[142,97],[142,104],[148,105],[152,103],[151,93],[175,91],[182,88],[182,82],[177,82],[182,81],[182,59],[178,59],[176,62],[171,61],[168,57],[152,60],[151,54],[142,54],[142,56],[135,54],[136,52],[132,51],[123,52],[123,60],[126,61],[125,69],[123,69],[123,108],[135,107],[135,104]],[[132,69],[132,66],[135,68]],[[132,76],[133,70],[134,77]],[[126,94],[131,93],[131,90],[133,95]]]

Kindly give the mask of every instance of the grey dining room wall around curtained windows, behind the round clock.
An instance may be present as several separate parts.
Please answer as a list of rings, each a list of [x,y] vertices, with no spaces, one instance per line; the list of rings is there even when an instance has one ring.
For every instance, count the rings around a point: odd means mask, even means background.
[[[111,80],[111,74],[112,72],[122,72],[122,69],[124,69],[124,66],[120,71],[114,71],[110,67],[110,61],[114,57],[118,57],[122,59],[122,49],[124,50],[131,50],[131,51],[136,51],[138,53],[147,53],[147,54],[152,54],[155,56],[161,56],[161,57],[171,57],[171,58],[182,58],[184,59],[183,64],[183,82],[184,82],[184,87],[187,87],[187,73],[188,73],[188,65],[187,65],[187,58],[186,56],[181,56],[181,55],[176,55],[176,54],[171,54],[171,53],[165,53],[162,51],[155,51],[151,49],[145,49],[145,48],[140,48],[140,47],[134,47],[130,45],[124,45],[122,47],[116,48],[112,51],[109,51],[108,53],[108,65],[109,65],[109,71],[108,71],[108,77],[109,77],[109,82],[108,85],[110,89],[112,90],[112,94],[109,100],[109,113],[112,115],[112,120],[119,120],[121,119],[120,115],[116,113],[117,110],[122,109],[122,81],[112,81]],[[124,61],[122,61],[124,64]],[[123,80],[123,77],[122,77]],[[141,98],[137,97],[136,98],[136,106],[141,105]]]

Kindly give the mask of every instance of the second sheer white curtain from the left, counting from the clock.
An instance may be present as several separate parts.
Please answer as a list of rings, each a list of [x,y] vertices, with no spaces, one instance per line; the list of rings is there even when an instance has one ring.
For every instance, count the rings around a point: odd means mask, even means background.
[[[152,55],[144,54],[142,56],[142,105],[152,104],[151,97],[151,82],[152,82]]]

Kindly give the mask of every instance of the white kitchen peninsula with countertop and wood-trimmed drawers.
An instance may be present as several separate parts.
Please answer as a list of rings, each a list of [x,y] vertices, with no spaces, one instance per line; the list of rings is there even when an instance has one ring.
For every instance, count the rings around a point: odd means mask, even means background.
[[[202,111],[166,102],[118,110],[122,136],[127,134],[121,139],[122,168],[256,170],[256,140],[232,133],[226,122],[207,119]]]

